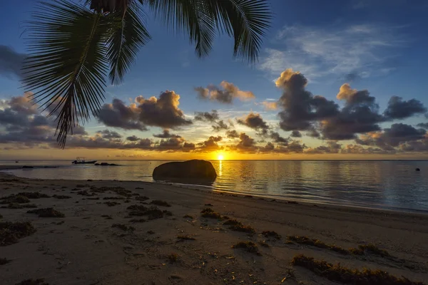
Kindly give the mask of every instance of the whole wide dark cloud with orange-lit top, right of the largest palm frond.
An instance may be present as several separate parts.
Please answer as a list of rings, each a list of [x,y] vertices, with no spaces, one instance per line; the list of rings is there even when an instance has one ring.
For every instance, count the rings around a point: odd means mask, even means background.
[[[125,105],[122,100],[113,99],[104,104],[98,114],[98,121],[114,128],[124,130],[148,130],[146,126],[178,128],[190,125],[184,113],[178,108],[180,95],[174,91],[165,91],[159,98],[136,98],[136,103]],[[138,104],[138,105],[137,105]]]

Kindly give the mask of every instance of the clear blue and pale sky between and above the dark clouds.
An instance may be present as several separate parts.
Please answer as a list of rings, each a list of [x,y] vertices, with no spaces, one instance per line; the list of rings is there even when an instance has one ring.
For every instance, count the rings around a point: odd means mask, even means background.
[[[4,3],[0,24],[8,28],[1,31],[0,45],[25,53],[25,36],[21,33],[34,2]],[[179,108],[189,118],[196,111],[215,109],[233,120],[253,110],[272,124],[272,128],[279,130],[278,110],[265,110],[260,103],[280,98],[282,90],[275,87],[275,79],[285,69],[292,68],[305,75],[307,90],[340,105],[336,95],[344,83],[357,90],[369,90],[380,110],[387,107],[392,95],[404,100],[416,98],[428,105],[427,1],[271,0],[270,4],[274,12],[272,25],[267,31],[259,61],[252,66],[233,58],[233,40],[227,36],[218,37],[210,56],[199,59],[187,38],[176,36],[148,16],[152,41],[139,53],[123,85],[108,86],[106,103],[111,103],[113,98],[130,103],[138,95],[149,98],[165,90],[174,90],[180,95]],[[253,92],[255,100],[235,100],[233,104],[225,105],[197,98],[195,87],[218,86],[222,81]],[[18,78],[13,75],[0,76],[0,86],[1,99],[23,93]],[[415,125],[424,123],[424,120],[423,115],[419,115],[407,118],[403,123]],[[389,125],[391,123],[382,123],[384,128]],[[88,133],[93,133],[102,126],[92,120],[85,128]],[[196,130],[206,135],[211,131],[198,128],[183,132],[188,132],[196,142],[202,141],[206,138],[197,138]],[[120,131],[148,138],[160,130]],[[288,134],[279,131],[282,135]],[[254,136],[254,132],[252,134]],[[307,145],[320,144],[312,138],[302,140]]]

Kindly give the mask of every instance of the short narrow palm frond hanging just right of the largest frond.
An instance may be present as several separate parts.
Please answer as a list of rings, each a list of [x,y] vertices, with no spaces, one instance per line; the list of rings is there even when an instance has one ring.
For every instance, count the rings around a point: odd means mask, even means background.
[[[135,61],[138,51],[151,40],[141,22],[142,10],[132,4],[123,12],[108,15],[109,37],[107,56],[111,66],[109,78],[112,84],[123,81],[123,76]]]

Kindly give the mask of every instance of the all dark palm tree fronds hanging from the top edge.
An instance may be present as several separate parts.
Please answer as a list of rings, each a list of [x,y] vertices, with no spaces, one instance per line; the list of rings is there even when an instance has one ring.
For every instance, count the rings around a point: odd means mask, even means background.
[[[267,0],[67,0],[43,1],[26,27],[29,56],[23,85],[49,115],[57,116],[58,144],[97,115],[106,79],[123,77],[151,40],[145,11],[188,34],[195,53],[210,53],[217,33],[233,36],[233,55],[253,63],[270,26]]]

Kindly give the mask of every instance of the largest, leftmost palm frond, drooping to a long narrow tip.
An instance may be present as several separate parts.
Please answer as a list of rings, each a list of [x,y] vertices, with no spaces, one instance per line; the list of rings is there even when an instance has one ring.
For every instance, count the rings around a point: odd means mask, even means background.
[[[29,57],[24,88],[35,103],[57,115],[58,144],[91,113],[98,113],[106,86],[107,23],[101,14],[68,1],[40,2],[28,22]]]

